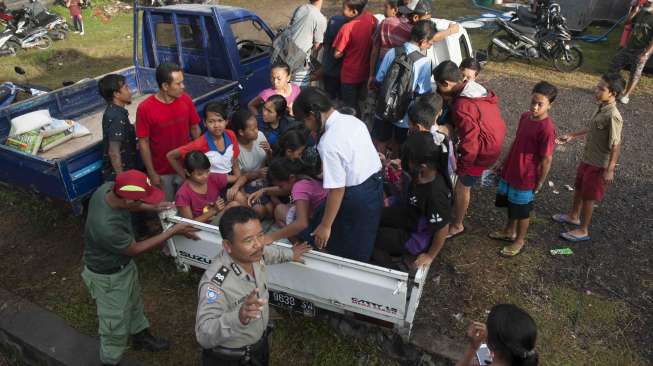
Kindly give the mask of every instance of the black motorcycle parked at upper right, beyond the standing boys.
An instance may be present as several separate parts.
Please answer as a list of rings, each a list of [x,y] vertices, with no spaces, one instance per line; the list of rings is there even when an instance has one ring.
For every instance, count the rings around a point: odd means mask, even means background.
[[[511,56],[553,60],[553,65],[561,72],[572,72],[583,64],[583,52],[571,43],[571,32],[558,4],[549,6],[540,27],[528,27],[500,18],[496,22],[499,29],[492,34],[488,46],[491,60],[505,61]]]

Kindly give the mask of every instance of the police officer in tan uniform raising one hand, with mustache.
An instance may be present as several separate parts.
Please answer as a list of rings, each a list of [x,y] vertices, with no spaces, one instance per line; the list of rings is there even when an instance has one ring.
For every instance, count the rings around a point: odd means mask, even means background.
[[[268,364],[266,264],[301,262],[306,244],[292,250],[266,246],[256,212],[228,209],[220,220],[223,250],[199,284],[195,334],[202,365]]]

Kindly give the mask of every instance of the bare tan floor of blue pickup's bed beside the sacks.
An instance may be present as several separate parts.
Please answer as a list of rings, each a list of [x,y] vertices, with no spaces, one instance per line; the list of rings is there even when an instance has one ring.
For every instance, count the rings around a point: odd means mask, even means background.
[[[132,123],[135,122],[136,109],[138,108],[138,105],[150,95],[151,94],[137,94],[132,97],[132,103],[127,106],[127,110],[129,111],[129,118]],[[39,153],[39,156],[47,160],[66,159],[79,151],[82,151],[98,142],[101,142],[103,114],[104,108],[100,108],[97,111],[75,121],[88,128],[88,130],[91,131],[90,135],[67,141],[57,147],[52,148],[51,150]]]

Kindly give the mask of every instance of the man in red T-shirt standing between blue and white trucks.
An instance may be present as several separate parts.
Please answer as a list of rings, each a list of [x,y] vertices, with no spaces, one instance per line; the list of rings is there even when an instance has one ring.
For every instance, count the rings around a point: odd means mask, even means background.
[[[184,73],[179,66],[159,65],[156,82],[159,91],[141,102],[136,111],[136,136],[152,185],[165,192],[166,201],[173,201],[182,182],[166,154],[189,143],[191,136],[200,136],[200,116],[184,92]]]

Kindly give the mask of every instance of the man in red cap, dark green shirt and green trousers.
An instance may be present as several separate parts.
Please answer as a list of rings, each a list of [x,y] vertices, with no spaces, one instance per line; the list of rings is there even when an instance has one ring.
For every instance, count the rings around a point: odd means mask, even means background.
[[[134,349],[161,351],[166,340],[153,337],[143,313],[143,297],[138,270],[132,257],[158,247],[173,235],[194,237],[194,229],[177,224],[152,238],[136,242],[131,212],[146,207],[163,207],[163,192],[147,176],[128,170],[115,183],[100,186],[89,202],[84,229],[84,270],[82,279],[95,299],[99,320],[100,361],[118,365],[133,335]]]

